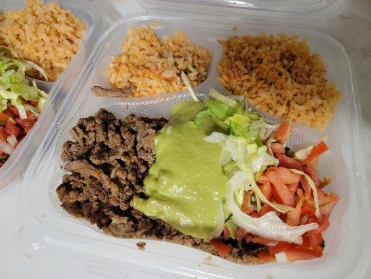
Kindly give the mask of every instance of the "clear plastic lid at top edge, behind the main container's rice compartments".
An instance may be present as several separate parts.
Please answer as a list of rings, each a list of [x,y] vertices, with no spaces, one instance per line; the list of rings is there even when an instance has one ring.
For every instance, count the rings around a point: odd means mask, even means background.
[[[139,0],[144,10],[322,24],[352,0]]]

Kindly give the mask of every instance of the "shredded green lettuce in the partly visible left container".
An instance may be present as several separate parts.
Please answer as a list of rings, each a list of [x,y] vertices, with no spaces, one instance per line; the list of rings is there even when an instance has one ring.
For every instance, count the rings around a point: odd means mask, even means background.
[[[3,47],[6,48],[6,47]],[[11,50],[10,50],[11,51]],[[17,107],[19,117],[26,119],[26,110],[31,110],[31,106],[25,106],[24,100],[38,101],[38,107],[34,107],[31,112],[40,112],[47,99],[47,93],[38,89],[35,81],[30,84],[26,79],[26,71],[35,68],[42,75],[45,72],[35,63],[12,59],[0,52],[0,109],[6,110],[8,103]],[[45,75],[45,79],[46,75]]]

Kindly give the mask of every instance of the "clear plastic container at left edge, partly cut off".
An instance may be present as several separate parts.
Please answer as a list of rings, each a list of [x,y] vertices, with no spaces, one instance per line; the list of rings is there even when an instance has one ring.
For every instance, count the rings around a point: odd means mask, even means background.
[[[0,10],[19,10],[25,8],[24,1],[25,0],[2,0],[0,2]],[[86,24],[86,33],[81,41],[79,51],[73,57],[68,67],[63,70],[63,73],[61,73],[56,82],[36,80],[38,87],[48,93],[47,102],[31,132],[24,137],[10,158],[8,158],[5,165],[0,168],[0,193],[1,190],[14,179],[20,179],[23,176],[33,153],[40,144],[40,140],[43,135],[45,135],[50,123],[52,123],[52,119],[54,119],[61,105],[61,101],[74,84],[76,80],[75,77],[80,74],[81,68],[84,66],[90,52],[92,52],[98,38],[100,38],[102,33],[106,30],[106,22],[102,20],[91,1],[61,0],[57,2],[62,8],[71,10],[74,15],[79,17]],[[30,80],[33,79],[30,78]]]

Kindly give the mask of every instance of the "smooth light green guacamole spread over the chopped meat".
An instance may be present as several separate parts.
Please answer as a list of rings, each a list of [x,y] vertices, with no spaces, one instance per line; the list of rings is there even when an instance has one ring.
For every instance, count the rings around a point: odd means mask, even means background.
[[[134,208],[164,220],[184,234],[207,239],[214,231],[228,181],[220,164],[221,147],[203,139],[221,128],[212,118],[200,127],[194,116],[205,105],[185,101],[171,110],[156,136],[156,162],[145,178],[148,199],[134,198]]]

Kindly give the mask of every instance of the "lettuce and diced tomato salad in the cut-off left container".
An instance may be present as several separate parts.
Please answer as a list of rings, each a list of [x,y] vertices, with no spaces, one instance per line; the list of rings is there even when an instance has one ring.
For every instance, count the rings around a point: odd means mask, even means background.
[[[19,140],[29,133],[47,99],[35,80],[30,83],[26,79],[26,72],[35,69],[47,80],[45,71],[31,61],[17,59],[8,47],[1,48],[15,58],[0,52],[0,166],[13,153]]]

